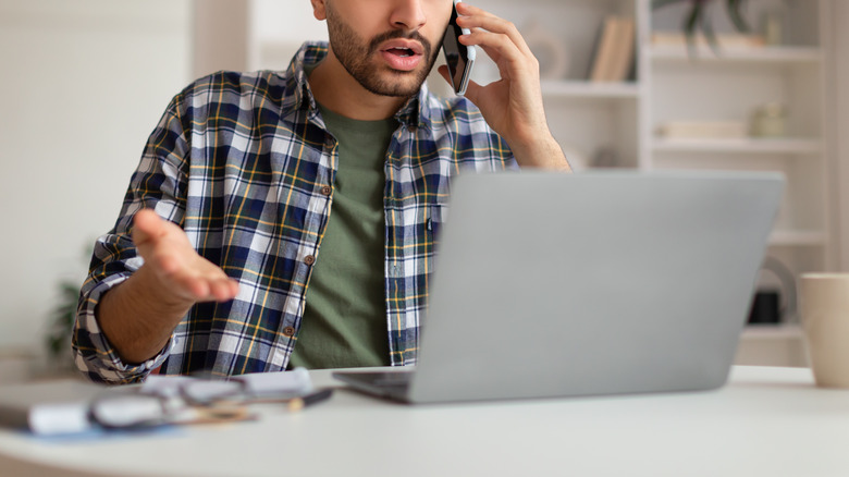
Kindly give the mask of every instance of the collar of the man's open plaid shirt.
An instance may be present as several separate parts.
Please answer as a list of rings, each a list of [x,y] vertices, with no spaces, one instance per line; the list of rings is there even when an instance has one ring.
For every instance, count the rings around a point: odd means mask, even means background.
[[[287,111],[307,110],[310,114],[318,113],[318,105],[309,88],[305,64],[319,63],[328,56],[327,41],[307,41],[295,53],[286,69],[286,87],[283,97],[283,108]],[[430,110],[428,108],[427,83],[421,85],[419,93],[410,97],[398,112],[395,119],[407,127],[422,127],[430,125]]]

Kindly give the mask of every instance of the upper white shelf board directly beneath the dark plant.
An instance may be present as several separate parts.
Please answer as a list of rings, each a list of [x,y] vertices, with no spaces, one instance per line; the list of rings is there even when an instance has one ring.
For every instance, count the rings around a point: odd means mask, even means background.
[[[649,47],[649,57],[659,62],[748,62],[748,63],[816,63],[823,58],[819,48],[812,47],[763,47],[726,48],[718,54],[710,48],[697,48],[691,54],[686,47]]]

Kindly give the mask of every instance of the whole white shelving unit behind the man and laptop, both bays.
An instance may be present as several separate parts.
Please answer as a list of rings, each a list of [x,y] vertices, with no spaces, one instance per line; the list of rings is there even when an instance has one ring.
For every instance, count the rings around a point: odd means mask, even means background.
[[[793,276],[836,268],[829,223],[825,71],[829,61],[829,15],[835,0],[750,0],[745,14],[755,32],[770,12],[782,14],[780,42],[761,48],[710,48],[694,53],[685,46],[653,46],[653,33],[676,33],[687,5],[652,11],[651,0],[478,0],[477,5],[519,27],[540,58],[565,57],[558,76],[543,75],[542,91],[552,132],[578,171],[605,151],[617,167],[639,170],[778,171],[787,178],[785,199],[767,255]],[[712,4],[714,29],[733,32],[724,2]],[[305,37],[325,38],[323,24],[306,22],[309,11],[283,12],[279,2],[251,0],[250,69],[285,68]],[[306,4],[306,2],[305,2]],[[288,9],[290,5],[286,5]],[[605,16],[635,20],[635,68],[626,82],[591,83],[596,38]],[[297,17],[297,20],[290,20]],[[269,19],[278,19],[271,25]],[[292,22],[292,24],[281,25]],[[309,23],[310,26],[304,26]],[[273,33],[270,33],[273,32]],[[286,36],[290,35],[290,36]],[[554,47],[552,46],[554,44]],[[496,78],[485,56],[473,80]],[[563,58],[558,57],[559,60]],[[543,64],[543,73],[546,68]],[[433,76],[432,76],[433,78]],[[432,89],[441,78],[431,80]],[[656,133],[669,121],[749,123],[762,105],[779,102],[789,111],[786,135],[776,138],[667,138]],[[768,273],[761,284],[776,286]],[[741,364],[805,364],[801,332],[792,315],[785,323],[752,327],[743,333]]]

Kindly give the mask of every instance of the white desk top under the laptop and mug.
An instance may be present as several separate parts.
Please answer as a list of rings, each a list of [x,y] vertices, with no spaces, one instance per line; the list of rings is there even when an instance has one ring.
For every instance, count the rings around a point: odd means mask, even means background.
[[[735,367],[698,393],[413,407],[339,391],[302,413],[258,409],[61,444],[0,430],[0,475],[849,475],[849,391],[815,388],[807,368]]]

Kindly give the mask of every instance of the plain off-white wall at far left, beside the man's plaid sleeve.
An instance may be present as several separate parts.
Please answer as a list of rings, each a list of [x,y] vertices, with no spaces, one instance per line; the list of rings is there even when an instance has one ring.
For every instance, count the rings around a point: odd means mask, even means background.
[[[0,351],[40,353],[59,282],[82,283],[189,80],[190,25],[189,0],[0,0]]]

